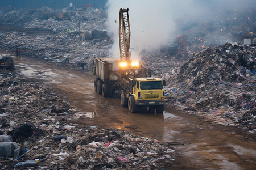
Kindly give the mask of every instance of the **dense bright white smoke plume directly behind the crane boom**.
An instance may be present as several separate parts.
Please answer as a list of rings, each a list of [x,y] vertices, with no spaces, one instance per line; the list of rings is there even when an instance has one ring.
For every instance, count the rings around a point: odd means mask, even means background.
[[[106,4],[108,7],[106,26],[112,33],[114,40],[110,56],[119,57],[118,22],[120,8],[129,8],[131,56],[138,58],[142,50],[150,52],[159,49],[161,45],[166,44],[170,37],[175,36],[175,19],[179,18],[180,10],[189,7],[190,2],[190,0],[181,0],[179,3],[170,0],[109,0]]]

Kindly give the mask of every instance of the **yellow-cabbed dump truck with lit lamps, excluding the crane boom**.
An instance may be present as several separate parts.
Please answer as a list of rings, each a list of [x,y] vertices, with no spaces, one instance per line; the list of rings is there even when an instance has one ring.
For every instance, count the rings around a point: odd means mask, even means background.
[[[118,94],[121,105],[128,107],[130,112],[148,106],[163,113],[165,80],[152,78],[142,66],[134,65],[126,66],[119,58],[96,58],[92,69],[92,74],[96,75],[94,90],[104,97]],[[142,75],[145,77],[139,77]]]

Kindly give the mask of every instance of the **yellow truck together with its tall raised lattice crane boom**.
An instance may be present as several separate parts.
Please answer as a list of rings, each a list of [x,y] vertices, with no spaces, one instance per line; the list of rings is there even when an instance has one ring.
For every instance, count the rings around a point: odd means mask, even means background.
[[[94,90],[103,97],[117,95],[121,105],[132,113],[138,112],[140,107],[155,108],[156,113],[163,113],[166,81],[152,78],[150,70],[131,61],[128,11],[119,10],[120,58],[96,58],[93,62]]]

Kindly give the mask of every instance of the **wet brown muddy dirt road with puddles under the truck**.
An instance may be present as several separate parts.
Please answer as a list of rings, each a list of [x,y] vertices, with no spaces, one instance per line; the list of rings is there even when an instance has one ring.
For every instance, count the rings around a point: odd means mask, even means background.
[[[168,104],[163,114],[147,109],[130,113],[118,99],[104,99],[94,92],[94,76],[90,73],[74,71],[65,63],[61,67],[25,56],[14,58],[15,67],[24,78],[57,90],[80,110],[75,116],[76,124],[118,128],[169,142],[180,153],[174,169],[255,168],[255,135],[213,125]]]

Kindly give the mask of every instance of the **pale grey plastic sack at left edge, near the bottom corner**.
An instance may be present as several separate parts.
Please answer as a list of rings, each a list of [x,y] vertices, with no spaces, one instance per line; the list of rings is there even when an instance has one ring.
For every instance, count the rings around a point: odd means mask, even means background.
[[[19,156],[20,147],[16,142],[0,142],[0,157]]]

